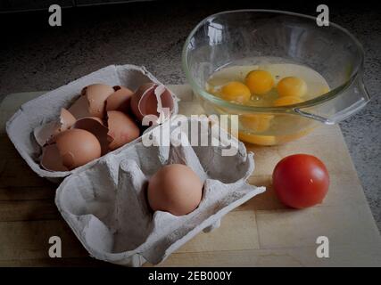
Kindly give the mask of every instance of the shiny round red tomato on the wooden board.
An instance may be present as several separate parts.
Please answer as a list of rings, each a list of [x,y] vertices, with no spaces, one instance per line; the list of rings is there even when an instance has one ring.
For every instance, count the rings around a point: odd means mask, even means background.
[[[319,159],[308,154],[294,154],[280,160],[272,173],[277,197],[292,208],[319,204],[327,194],[329,175]]]

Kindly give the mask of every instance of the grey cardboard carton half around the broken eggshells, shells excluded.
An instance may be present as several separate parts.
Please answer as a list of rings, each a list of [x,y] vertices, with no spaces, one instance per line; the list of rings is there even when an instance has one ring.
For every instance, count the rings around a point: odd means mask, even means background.
[[[158,79],[148,72],[145,67],[135,65],[111,65],[103,69],[99,69],[85,77],[63,85],[53,91],[39,96],[38,98],[24,103],[19,110],[6,123],[6,132],[13,142],[15,148],[25,159],[29,167],[42,177],[54,183],[59,183],[62,178],[73,173],[81,172],[95,165],[98,159],[88,162],[86,165],[77,167],[70,171],[47,171],[40,167],[39,157],[41,155],[41,147],[38,145],[33,131],[37,126],[41,126],[56,118],[59,118],[61,108],[69,108],[70,104],[79,97],[83,87],[94,83],[103,83],[106,85],[124,85],[131,90],[136,90],[140,85],[148,82],[161,84]],[[175,94],[173,114],[178,112],[178,99]],[[123,151],[128,145],[138,141],[134,140],[120,147],[119,149],[109,152],[118,153]]]

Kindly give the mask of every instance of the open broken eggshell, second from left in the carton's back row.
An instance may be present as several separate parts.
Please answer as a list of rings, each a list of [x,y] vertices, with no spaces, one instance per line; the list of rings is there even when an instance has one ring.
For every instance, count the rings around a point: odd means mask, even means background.
[[[70,106],[69,111],[75,118],[104,118],[105,102],[113,93],[110,85],[88,85],[82,89],[79,99]]]

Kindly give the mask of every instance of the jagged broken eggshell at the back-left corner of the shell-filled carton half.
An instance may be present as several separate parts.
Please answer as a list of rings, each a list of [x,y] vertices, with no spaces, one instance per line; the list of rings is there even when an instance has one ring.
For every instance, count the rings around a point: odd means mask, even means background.
[[[40,146],[44,146],[53,139],[54,135],[66,131],[70,128],[70,126],[74,125],[75,121],[76,118],[71,115],[70,111],[62,108],[60,118],[58,120],[47,123],[43,126],[37,126],[33,130],[33,134],[37,143]]]

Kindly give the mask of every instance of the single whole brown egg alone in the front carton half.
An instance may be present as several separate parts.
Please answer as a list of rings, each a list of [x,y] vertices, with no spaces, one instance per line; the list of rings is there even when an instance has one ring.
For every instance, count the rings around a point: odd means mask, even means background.
[[[153,211],[182,216],[191,213],[200,204],[203,183],[190,167],[170,164],[151,177],[147,195]]]

